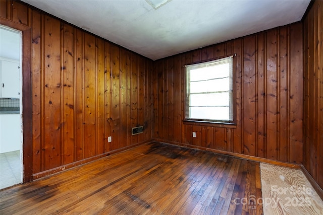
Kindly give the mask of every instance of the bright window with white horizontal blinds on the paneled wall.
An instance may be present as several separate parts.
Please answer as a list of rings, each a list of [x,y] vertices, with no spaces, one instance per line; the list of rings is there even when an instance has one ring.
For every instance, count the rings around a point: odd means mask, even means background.
[[[185,67],[185,119],[234,123],[233,56]]]

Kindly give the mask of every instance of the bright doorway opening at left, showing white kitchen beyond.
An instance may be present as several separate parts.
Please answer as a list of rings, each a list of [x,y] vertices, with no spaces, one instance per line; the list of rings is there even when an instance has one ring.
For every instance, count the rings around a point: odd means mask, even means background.
[[[23,181],[22,32],[0,25],[0,189]]]

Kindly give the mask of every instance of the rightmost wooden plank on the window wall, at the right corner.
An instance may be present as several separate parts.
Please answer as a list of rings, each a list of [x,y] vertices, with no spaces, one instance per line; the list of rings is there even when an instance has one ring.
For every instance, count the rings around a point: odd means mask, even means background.
[[[290,80],[290,160],[291,163],[301,164],[303,162],[303,136],[302,128],[302,23],[290,27],[290,69],[292,77]]]

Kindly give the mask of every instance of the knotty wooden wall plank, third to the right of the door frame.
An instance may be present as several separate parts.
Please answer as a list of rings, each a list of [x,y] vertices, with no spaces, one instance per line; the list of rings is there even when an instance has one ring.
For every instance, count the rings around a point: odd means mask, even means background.
[[[62,164],[74,162],[74,30],[62,24]]]

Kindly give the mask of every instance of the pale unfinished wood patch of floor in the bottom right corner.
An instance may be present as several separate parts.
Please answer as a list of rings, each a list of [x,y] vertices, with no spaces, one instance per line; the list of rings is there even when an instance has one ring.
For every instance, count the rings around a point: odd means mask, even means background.
[[[260,163],[263,214],[323,214],[323,201],[301,170]]]

